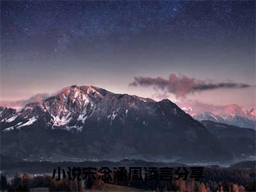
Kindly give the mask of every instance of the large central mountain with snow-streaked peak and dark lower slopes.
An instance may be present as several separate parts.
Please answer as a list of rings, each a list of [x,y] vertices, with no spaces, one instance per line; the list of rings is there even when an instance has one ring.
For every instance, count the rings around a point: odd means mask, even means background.
[[[232,155],[168,99],[156,102],[94,86],[1,112],[2,153],[23,159],[231,161]]]

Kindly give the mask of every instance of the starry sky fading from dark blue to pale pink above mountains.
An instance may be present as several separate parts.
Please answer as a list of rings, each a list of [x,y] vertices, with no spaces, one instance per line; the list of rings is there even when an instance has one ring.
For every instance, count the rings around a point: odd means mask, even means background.
[[[134,77],[168,83],[170,74],[177,83],[188,78],[200,86],[247,86],[182,97],[156,83],[131,86]],[[72,84],[153,99],[256,106],[255,1],[1,1],[0,100]]]

